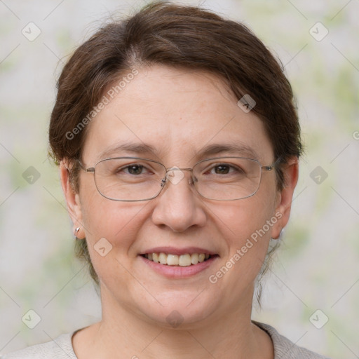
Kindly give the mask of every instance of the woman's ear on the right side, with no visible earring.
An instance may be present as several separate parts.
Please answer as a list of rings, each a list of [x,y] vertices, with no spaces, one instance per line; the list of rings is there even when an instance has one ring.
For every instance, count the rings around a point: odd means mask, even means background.
[[[294,189],[297,186],[299,163],[296,156],[291,157],[283,167],[284,187],[278,192],[275,215],[278,218],[272,227],[271,237],[279,238],[280,231],[287,225],[292,207]]]

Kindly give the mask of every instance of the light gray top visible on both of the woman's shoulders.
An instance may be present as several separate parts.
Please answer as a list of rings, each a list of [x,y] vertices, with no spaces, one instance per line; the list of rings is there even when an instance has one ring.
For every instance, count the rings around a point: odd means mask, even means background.
[[[274,359],[328,359],[305,348],[297,346],[289,339],[280,335],[273,327],[253,322],[265,330],[273,341]],[[72,348],[72,335],[62,334],[54,341],[37,344],[14,353],[1,356],[0,359],[78,359]]]

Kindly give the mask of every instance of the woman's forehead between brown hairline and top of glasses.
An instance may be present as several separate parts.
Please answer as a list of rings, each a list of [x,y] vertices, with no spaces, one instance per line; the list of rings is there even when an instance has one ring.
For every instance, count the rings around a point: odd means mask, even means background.
[[[238,107],[217,76],[153,66],[138,69],[95,116],[83,158],[138,154],[184,164],[219,153],[271,159],[262,121]]]

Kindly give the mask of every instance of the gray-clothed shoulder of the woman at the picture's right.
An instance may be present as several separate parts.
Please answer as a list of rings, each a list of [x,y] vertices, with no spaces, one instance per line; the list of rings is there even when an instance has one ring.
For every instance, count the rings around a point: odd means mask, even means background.
[[[302,346],[297,346],[289,339],[280,335],[271,325],[252,321],[267,332],[273,341],[274,359],[328,359],[323,355],[313,353]]]

